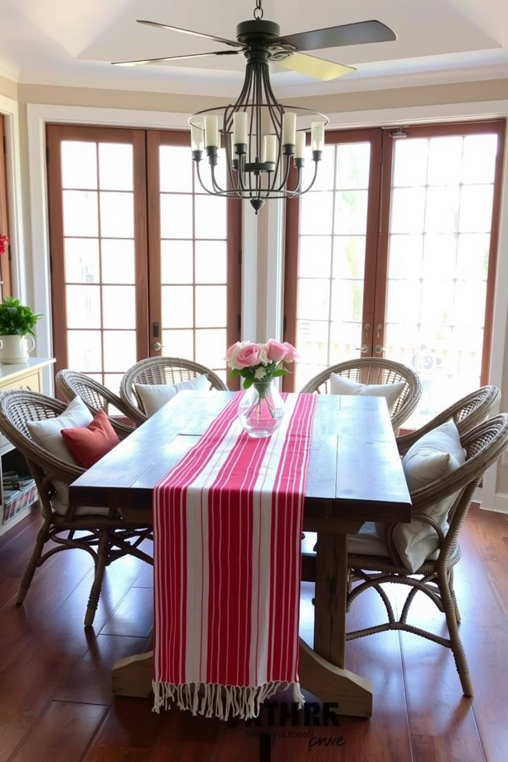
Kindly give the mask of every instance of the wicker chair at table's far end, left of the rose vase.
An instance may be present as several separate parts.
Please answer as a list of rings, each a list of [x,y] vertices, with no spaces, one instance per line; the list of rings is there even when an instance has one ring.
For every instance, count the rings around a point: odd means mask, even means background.
[[[147,357],[126,370],[120,382],[120,397],[123,409],[136,424],[142,424],[148,418],[142,399],[136,392],[136,384],[174,384],[188,381],[196,376],[206,376],[210,389],[225,392],[228,387],[210,370],[193,360],[181,357]]]

